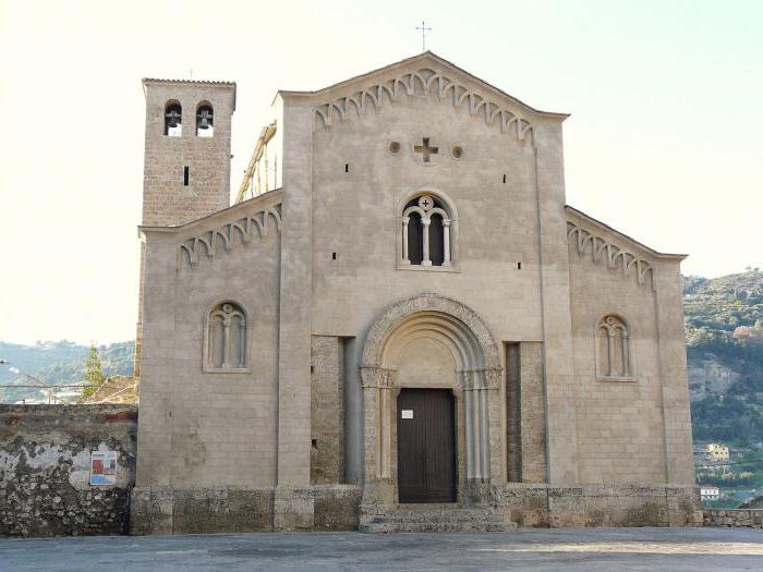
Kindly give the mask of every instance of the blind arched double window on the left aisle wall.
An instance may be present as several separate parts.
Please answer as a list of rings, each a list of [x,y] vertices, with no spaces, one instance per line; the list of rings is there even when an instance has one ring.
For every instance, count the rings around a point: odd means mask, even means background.
[[[204,333],[206,372],[246,368],[246,315],[241,306],[233,302],[213,306]]]

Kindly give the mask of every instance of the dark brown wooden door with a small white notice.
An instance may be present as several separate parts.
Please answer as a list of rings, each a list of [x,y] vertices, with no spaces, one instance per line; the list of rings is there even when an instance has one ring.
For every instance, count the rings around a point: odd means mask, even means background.
[[[402,389],[398,397],[400,502],[456,501],[453,395],[447,389]]]

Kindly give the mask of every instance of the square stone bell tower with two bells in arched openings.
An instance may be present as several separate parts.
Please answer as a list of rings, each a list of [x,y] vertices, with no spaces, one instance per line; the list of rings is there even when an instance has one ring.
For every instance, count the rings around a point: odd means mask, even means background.
[[[177,227],[230,206],[235,84],[143,80],[143,220]]]

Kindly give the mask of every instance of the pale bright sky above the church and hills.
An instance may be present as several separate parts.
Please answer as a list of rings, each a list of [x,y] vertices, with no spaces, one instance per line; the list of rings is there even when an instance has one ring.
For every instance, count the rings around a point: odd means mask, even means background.
[[[238,83],[233,180],[278,88],[427,48],[565,123],[567,202],[685,273],[763,266],[761,1],[0,0],[0,340],[134,337],[141,78]]]

